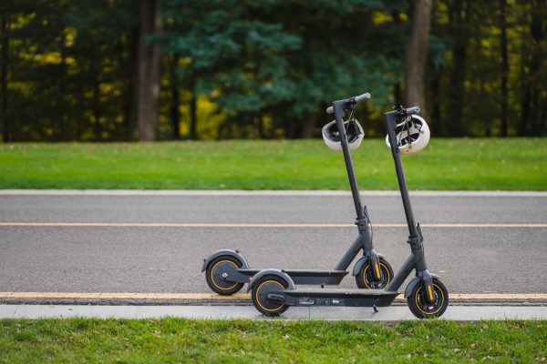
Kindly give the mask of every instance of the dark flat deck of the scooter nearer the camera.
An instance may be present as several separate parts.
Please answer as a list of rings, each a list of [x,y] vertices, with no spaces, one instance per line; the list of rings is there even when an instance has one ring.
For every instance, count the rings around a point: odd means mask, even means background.
[[[268,294],[268,298],[281,300],[289,306],[386,307],[397,295],[397,291],[382,289],[297,288]]]

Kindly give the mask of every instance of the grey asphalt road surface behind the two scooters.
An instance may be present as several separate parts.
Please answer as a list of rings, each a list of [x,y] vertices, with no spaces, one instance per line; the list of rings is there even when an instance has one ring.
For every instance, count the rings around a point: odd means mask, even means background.
[[[364,197],[373,223],[402,224],[400,197]],[[545,224],[547,195],[412,197],[424,224]],[[0,222],[351,224],[344,197],[0,196]],[[546,293],[546,227],[424,227],[429,270],[453,293]],[[374,243],[394,268],[404,227]],[[0,226],[0,291],[209,292],[202,259],[237,248],[252,267],[334,268],[355,227]],[[355,288],[352,277],[342,287]]]

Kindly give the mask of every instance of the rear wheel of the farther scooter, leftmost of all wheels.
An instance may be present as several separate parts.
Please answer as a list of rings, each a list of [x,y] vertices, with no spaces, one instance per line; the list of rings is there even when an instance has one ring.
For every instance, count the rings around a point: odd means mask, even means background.
[[[239,259],[232,256],[220,256],[212,259],[205,270],[207,285],[214,292],[222,296],[230,296],[243,288],[243,283],[224,280],[222,274],[231,269],[242,268],[243,264]]]

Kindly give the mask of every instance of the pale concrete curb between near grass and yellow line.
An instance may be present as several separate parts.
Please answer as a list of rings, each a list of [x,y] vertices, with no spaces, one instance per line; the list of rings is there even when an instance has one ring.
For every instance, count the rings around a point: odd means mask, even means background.
[[[0,319],[267,319],[249,306],[46,306],[0,305]],[[416,319],[406,307],[290,308],[281,319],[399,321]],[[453,306],[442,319],[547,319],[547,307]]]

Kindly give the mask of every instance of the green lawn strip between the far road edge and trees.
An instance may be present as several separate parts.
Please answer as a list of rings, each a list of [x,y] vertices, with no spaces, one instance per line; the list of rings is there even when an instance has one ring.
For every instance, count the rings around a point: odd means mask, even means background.
[[[547,190],[547,139],[434,139],[406,156],[411,189]],[[384,141],[354,153],[363,189],[397,189]],[[0,188],[347,189],[322,140],[0,146]]]

